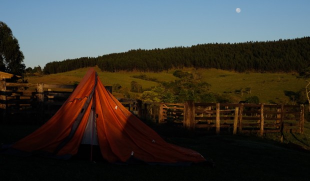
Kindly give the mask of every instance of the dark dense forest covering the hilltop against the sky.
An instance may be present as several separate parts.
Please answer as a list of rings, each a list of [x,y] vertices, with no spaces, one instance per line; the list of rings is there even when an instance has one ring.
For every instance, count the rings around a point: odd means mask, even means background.
[[[134,49],[98,57],[47,63],[45,74],[97,65],[102,71],[151,71],[217,68],[236,72],[300,72],[310,64],[310,37],[243,43],[207,43],[190,47]]]

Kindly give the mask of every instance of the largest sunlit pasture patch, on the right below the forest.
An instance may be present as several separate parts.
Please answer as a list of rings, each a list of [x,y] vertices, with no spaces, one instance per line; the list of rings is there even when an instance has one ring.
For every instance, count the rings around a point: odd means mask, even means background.
[[[236,97],[236,101],[258,96],[262,103],[269,100],[291,104],[284,91],[299,91],[306,83],[292,73],[236,73],[219,69],[198,69],[204,81],[211,84],[211,91]],[[251,92],[246,92],[249,87]],[[243,95],[235,90],[243,89]]]

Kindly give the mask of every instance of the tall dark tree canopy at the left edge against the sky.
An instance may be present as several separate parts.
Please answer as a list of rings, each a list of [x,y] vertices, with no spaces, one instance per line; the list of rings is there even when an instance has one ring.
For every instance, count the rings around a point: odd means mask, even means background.
[[[25,69],[23,59],[18,40],[11,29],[0,21],[0,71],[22,75]]]

